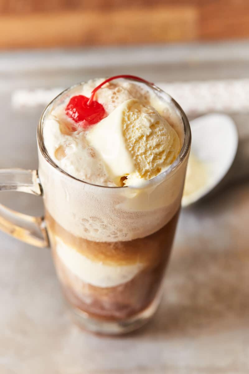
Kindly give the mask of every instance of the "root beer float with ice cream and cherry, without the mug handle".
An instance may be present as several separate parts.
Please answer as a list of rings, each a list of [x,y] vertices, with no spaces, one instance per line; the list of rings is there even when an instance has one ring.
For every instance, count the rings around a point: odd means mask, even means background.
[[[158,305],[174,238],[183,112],[149,82],[116,76],[59,95],[42,126],[39,177],[65,297],[88,329],[134,329]]]

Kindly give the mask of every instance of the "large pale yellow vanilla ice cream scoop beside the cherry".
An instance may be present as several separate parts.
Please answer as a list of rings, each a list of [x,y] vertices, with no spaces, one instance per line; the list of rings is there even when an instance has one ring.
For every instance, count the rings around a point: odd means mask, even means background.
[[[176,131],[151,105],[137,99],[124,101],[94,125],[87,141],[118,186],[136,185],[156,177],[180,152]]]

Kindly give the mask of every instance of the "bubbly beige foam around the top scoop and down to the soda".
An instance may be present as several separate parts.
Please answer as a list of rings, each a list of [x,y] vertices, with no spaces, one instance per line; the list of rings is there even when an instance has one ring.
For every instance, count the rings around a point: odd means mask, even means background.
[[[60,172],[39,152],[39,176],[46,209],[65,230],[88,240],[115,242],[144,237],[161,229],[179,209],[186,159],[180,168],[173,172],[169,169],[142,187],[110,188],[115,183],[103,159],[91,147],[86,134],[74,131],[74,123],[65,116],[71,96],[89,97],[99,83],[99,80],[90,81],[62,94],[43,119],[44,144],[50,158],[79,179]],[[120,80],[101,88],[96,99],[107,114],[131,99],[151,105],[175,130],[181,148],[184,140],[181,113],[168,95],[161,95],[145,85]],[[175,163],[178,161],[177,158]]]

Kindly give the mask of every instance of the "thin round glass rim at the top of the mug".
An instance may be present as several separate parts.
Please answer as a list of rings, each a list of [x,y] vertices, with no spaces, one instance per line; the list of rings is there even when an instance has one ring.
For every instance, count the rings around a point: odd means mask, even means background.
[[[183,126],[184,126],[184,141],[183,141],[183,145],[181,147],[180,153],[178,154],[177,159],[169,166],[168,169],[166,169],[164,172],[156,175],[156,177],[152,178],[150,181],[156,180],[160,176],[162,177],[162,175],[164,175],[165,178],[171,177],[171,175],[174,174],[174,172],[183,163],[184,159],[186,158],[186,156],[187,156],[187,154],[189,152],[190,144],[191,144],[190,124],[189,124],[189,120],[188,120],[188,118],[187,118],[187,116],[186,116],[183,108],[181,108],[181,106],[178,104],[177,101],[175,101],[174,98],[172,98],[172,96],[170,96],[168,93],[166,93],[161,88],[159,88],[158,86],[154,85],[153,83],[139,82],[138,80],[131,79],[131,78],[129,78],[129,79],[127,79],[127,78],[119,78],[119,79],[125,79],[125,80],[133,81],[133,82],[136,82],[136,83],[140,83],[140,84],[143,84],[145,86],[150,87],[153,91],[156,91],[157,93],[160,93],[161,95],[165,95],[166,94],[171,99],[171,101],[173,102],[173,104],[175,105],[175,107],[180,111],[181,118],[183,120]],[[117,79],[117,80],[119,80],[119,79]],[[59,95],[57,95],[55,98],[53,98],[53,100],[50,101],[50,103],[47,104],[47,106],[44,108],[43,113],[41,114],[38,126],[37,126],[37,144],[38,144],[39,150],[41,152],[41,155],[57,171],[61,172],[62,174],[65,174],[67,177],[72,178],[72,179],[74,179],[74,180],[76,180],[78,182],[85,183],[85,184],[88,184],[88,185],[94,186],[94,187],[111,188],[112,190],[115,189],[115,188],[119,188],[119,189],[120,188],[137,188],[137,186],[113,186],[113,187],[112,186],[102,186],[102,185],[99,185],[99,184],[94,184],[94,183],[90,183],[90,182],[78,179],[78,178],[73,177],[72,175],[68,174],[66,171],[64,171],[58,165],[56,165],[56,163],[51,159],[51,157],[49,156],[49,153],[47,152],[47,149],[46,149],[45,144],[44,144],[44,138],[43,138],[43,121],[44,121],[44,118],[46,117],[47,112],[49,111],[49,109],[53,105],[53,103],[57,99],[59,99],[60,96],[62,96],[66,92],[71,91],[71,89],[74,89],[74,88],[76,88],[78,86],[84,85],[85,83],[86,82],[76,83],[75,85],[66,88],[64,91],[60,92]],[[139,188],[142,188],[142,187],[143,186],[139,186]]]

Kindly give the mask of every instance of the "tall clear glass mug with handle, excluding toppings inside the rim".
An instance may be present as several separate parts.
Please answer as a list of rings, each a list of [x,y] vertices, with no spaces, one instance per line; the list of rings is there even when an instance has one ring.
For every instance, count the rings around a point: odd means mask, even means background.
[[[168,100],[159,88],[149,86]],[[177,160],[149,188],[103,187],[77,180],[50,159],[43,123],[51,108],[78,88],[62,92],[41,116],[38,172],[0,171],[0,190],[42,195],[45,217],[0,205],[0,229],[29,244],[51,247],[63,294],[81,327],[122,334],[146,323],[161,298],[181,206],[190,126],[172,99],[183,121],[183,146]]]

